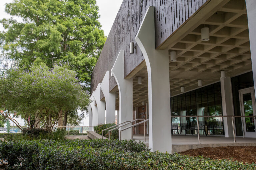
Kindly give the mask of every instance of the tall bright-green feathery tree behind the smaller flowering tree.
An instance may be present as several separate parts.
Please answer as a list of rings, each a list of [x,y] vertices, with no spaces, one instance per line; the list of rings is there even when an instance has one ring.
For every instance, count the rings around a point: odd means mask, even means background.
[[[88,90],[106,40],[98,10],[95,0],[14,0],[5,11],[23,21],[0,21],[6,29],[0,33],[2,56],[25,68],[68,62]]]

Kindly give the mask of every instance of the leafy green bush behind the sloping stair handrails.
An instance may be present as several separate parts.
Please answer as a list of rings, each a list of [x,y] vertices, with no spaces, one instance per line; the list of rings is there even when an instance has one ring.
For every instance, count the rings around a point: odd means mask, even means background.
[[[116,124],[102,124],[102,125],[97,125],[97,126],[94,126],[93,129],[96,133],[99,133],[101,135],[101,131],[106,129],[106,128],[110,128],[112,126],[115,126]],[[112,128],[111,128],[112,129]],[[108,130],[111,130],[111,129],[108,129]],[[103,131],[103,136],[107,137],[108,138],[108,130],[105,130]],[[110,138],[111,139],[118,139],[118,130],[113,130],[110,132]]]

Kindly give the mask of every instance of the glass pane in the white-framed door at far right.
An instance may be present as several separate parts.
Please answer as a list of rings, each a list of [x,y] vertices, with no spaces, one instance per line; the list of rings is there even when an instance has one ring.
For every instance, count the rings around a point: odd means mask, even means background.
[[[243,94],[243,104],[244,104],[244,115],[253,116],[251,93]],[[246,131],[255,132],[255,125],[254,125],[253,118],[245,118],[245,125],[246,125]]]

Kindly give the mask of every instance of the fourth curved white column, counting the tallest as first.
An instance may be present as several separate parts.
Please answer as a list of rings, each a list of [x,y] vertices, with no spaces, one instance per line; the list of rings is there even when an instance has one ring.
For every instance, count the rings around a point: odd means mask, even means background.
[[[105,101],[100,100],[100,83],[98,84],[93,95],[98,108],[98,124],[105,124]]]

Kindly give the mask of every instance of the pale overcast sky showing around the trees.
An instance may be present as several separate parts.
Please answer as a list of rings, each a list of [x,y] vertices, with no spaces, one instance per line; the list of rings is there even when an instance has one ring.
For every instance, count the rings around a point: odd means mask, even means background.
[[[10,18],[11,16],[7,14],[5,9],[5,3],[11,3],[13,0],[0,0],[0,20],[3,18]],[[114,20],[116,18],[117,12],[122,4],[123,0],[96,0],[96,3],[99,7],[99,21],[102,25],[102,30],[104,30],[104,33],[106,36],[108,36],[111,27],[114,23]],[[16,18],[17,20],[20,20],[19,18]],[[3,26],[0,25],[0,31],[3,31]],[[20,122],[20,119],[17,119],[18,122]],[[12,124],[12,123],[11,123]],[[22,121],[22,125],[24,125],[24,122]],[[80,126],[89,126],[89,117],[86,117]]]

